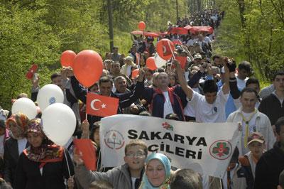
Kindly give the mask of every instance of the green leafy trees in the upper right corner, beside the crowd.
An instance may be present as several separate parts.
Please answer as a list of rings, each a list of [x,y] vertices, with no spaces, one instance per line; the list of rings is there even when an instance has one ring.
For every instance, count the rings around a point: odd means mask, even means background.
[[[268,82],[275,70],[284,68],[284,21],[280,14],[284,7],[281,1],[217,1],[226,16],[218,31],[215,53],[229,55],[238,62],[249,60],[256,76]]]

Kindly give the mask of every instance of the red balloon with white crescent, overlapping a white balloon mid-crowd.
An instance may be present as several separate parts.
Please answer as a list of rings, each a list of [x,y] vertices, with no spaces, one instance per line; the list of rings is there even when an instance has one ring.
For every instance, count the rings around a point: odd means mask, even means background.
[[[163,38],[157,43],[157,53],[160,58],[163,58],[163,60],[169,60],[172,58],[174,50],[175,45],[173,44],[173,41],[170,41],[167,38]]]

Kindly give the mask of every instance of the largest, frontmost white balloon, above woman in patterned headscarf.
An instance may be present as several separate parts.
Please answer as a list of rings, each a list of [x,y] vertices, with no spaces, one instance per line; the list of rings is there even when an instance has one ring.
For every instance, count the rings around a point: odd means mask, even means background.
[[[43,131],[55,144],[65,146],[75,131],[76,117],[66,104],[51,104],[43,111],[41,117]]]

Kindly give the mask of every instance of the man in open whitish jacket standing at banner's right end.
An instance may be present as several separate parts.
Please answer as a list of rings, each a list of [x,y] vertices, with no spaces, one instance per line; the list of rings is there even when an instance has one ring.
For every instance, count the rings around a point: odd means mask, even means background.
[[[249,87],[244,88],[244,90],[241,91],[241,107],[231,113],[227,119],[227,122],[240,122],[241,124],[242,134],[237,144],[240,156],[244,156],[249,152],[247,146],[248,137],[253,132],[263,134],[267,149],[271,149],[275,143],[271,121],[269,121],[266,114],[256,109],[257,96],[256,90]]]

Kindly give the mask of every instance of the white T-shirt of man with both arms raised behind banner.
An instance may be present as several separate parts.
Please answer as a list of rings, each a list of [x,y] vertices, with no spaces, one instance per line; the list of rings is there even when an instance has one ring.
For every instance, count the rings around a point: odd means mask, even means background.
[[[228,97],[229,94],[224,95],[221,88],[215,102],[208,104],[203,95],[193,91],[192,99],[188,101],[187,106],[195,109],[195,118],[199,123],[222,123],[226,121],[225,104]]]

